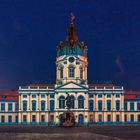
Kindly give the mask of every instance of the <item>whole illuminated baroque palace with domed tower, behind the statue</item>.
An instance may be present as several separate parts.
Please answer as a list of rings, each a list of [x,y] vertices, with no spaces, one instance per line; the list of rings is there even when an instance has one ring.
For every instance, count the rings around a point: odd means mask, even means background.
[[[112,83],[88,84],[87,46],[79,42],[71,16],[68,36],[57,46],[56,84],[29,84],[0,92],[0,124],[59,125],[71,95],[77,124],[140,123],[140,92]]]

